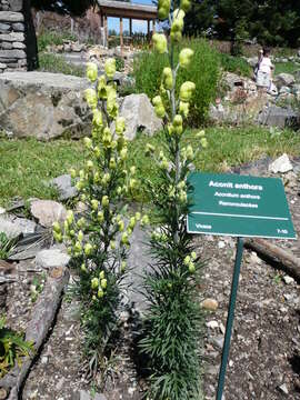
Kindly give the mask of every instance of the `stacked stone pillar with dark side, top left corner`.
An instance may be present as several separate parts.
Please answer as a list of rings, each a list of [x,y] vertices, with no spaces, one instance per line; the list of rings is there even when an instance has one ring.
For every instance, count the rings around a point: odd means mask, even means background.
[[[0,72],[38,67],[30,0],[0,0]]]

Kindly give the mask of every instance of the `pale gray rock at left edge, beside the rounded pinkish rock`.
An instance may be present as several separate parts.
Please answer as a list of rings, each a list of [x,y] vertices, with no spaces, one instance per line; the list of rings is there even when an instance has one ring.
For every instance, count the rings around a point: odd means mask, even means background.
[[[9,238],[18,238],[21,233],[34,233],[37,223],[26,218],[18,218],[9,214],[0,216],[0,231]]]

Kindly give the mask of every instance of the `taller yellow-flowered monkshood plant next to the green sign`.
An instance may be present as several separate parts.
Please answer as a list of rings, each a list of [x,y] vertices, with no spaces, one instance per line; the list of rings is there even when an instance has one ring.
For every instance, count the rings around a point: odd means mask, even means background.
[[[170,37],[153,36],[156,50],[168,54],[169,66],[162,71],[160,96],[152,100],[158,117],[164,121],[164,147],[159,152],[150,144],[147,148],[148,156],[158,164],[162,182],[159,192],[148,182],[160,227],[150,238],[154,263],[143,281],[149,308],[140,341],[141,351],[149,357],[149,399],[152,400],[191,400],[200,394],[201,316],[197,277],[201,263],[186,230],[190,189],[187,176],[196,153],[191,146],[182,144],[189,101],[197,89],[192,81],[186,81],[176,92],[178,70],[190,67],[193,51],[182,49],[179,62],[174,62],[174,49],[181,41],[189,7],[189,0],[181,0],[179,9],[174,9],[173,1],[160,0],[159,18],[169,18]],[[207,147],[204,131],[198,137],[200,147]]]

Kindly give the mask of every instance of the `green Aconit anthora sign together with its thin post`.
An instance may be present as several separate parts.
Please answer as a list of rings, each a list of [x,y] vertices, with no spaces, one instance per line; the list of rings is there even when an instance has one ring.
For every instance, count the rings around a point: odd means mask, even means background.
[[[242,262],[243,239],[296,239],[284,188],[279,178],[192,172],[189,233],[238,238],[217,400],[222,400]]]

